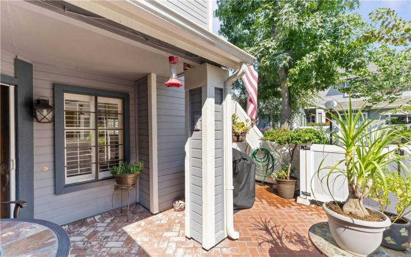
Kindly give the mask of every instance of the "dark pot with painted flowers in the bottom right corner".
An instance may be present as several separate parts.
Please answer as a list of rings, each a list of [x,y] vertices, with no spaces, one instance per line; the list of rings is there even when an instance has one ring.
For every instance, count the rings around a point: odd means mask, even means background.
[[[411,243],[411,220],[406,217],[402,219],[407,223],[393,223],[384,231],[381,245],[400,251],[407,249]]]

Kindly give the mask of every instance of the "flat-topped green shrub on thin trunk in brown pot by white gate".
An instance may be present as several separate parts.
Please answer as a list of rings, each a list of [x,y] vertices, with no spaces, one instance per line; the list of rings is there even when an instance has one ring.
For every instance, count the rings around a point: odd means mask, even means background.
[[[297,179],[291,176],[294,172],[291,162],[298,146],[303,143],[325,143],[328,141],[324,131],[314,130],[314,128],[297,128],[294,131],[278,128],[267,130],[261,140],[285,146],[290,155],[290,162],[271,175],[276,182],[278,195],[283,198],[294,196]]]

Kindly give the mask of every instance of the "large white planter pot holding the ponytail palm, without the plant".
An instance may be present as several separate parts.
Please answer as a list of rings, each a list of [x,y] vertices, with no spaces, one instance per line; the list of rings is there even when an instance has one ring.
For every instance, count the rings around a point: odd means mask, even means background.
[[[328,216],[328,226],[337,245],[354,255],[367,256],[377,250],[382,241],[384,230],[391,225],[389,218],[378,212],[385,218],[382,222],[367,222],[353,219],[327,208],[323,209]]]

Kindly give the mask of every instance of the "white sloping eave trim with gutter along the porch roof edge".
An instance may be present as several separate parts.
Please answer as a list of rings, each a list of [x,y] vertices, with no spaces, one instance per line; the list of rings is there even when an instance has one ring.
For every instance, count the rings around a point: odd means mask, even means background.
[[[157,1],[72,1],[70,4],[232,69],[254,57]]]

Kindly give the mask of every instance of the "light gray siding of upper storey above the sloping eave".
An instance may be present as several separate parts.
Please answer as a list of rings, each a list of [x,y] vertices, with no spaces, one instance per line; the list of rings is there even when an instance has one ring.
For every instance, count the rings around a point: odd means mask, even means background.
[[[161,0],[161,4],[178,12],[190,21],[208,28],[208,4],[205,0]]]

